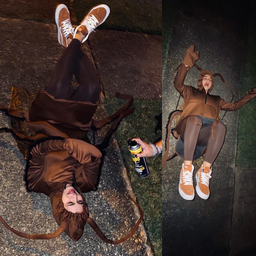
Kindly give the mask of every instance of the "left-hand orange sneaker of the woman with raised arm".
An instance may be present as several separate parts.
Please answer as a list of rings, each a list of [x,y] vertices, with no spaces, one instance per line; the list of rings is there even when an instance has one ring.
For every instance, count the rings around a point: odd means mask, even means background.
[[[193,165],[182,164],[181,174],[179,175],[179,194],[186,200],[193,200],[195,197],[193,171]]]

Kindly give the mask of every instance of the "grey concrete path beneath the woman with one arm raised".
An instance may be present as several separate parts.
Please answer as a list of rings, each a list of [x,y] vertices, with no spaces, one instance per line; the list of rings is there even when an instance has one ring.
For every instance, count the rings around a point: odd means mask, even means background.
[[[242,96],[240,81],[244,45],[234,40],[232,35],[222,35],[213,26],[197,18],[186,17],[181,12],[176,13],[173,24],[168,57],[163,69],[164,130],[168,115],[175,110],[178,101],[178,93],[173,87],[172,73],[182,62],[186,49],[191,45],[195,45],[195,50],[200,51],[197,64],[202,68],[210,69],[213,73],[221,73],[232,85],[234,101]],[[197,69],[191,68],[184,83],[195,86],[198,75]],[[231,99],[229,90],[219,78],[215,80],[212,94],[221,95],[226,101]],[[182,199],[178,193],[182,159],[176,157],[166,163],[162,176],[163,255],[234,255],[255,247],[254,171],[235,170],[238,115],[238,111],[228,112],[223,119],[227,133],[222,150],[213,166],[211,194],[208,200],[199,198],[197,194],[192,201]],[[174,151],[175,142],[171,137],[170,153]],[[251,177],[250,181],[246,177]],[[251,222],[254,225],[250,227],[252,237],[245,239],[243,236],[248,235],[247,227]],[[246,244],[243,243],[245,240],[247,240]],[[184,243],[184,246],[181,246],[181,243]]]

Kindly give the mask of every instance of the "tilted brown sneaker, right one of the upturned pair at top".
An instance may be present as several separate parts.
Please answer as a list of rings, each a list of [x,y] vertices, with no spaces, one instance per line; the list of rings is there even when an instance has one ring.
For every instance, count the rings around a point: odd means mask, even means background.
[[[97,5],[93,7],[88,15],[82,20],[81,24],[77,26],[74,32],[75,34],[79,31],[85,38],[83,39],[82,43],[85,42],[89,36],[89,34],[96,29],[98,25],[101,25],[106,18],[110,14],[110,8],[107,5]]]

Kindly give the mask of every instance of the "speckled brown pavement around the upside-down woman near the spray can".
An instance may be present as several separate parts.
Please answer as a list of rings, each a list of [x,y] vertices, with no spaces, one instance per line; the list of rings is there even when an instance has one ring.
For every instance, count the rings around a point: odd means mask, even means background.
[[[40,6],[36,1],[31,1],[29,5],[25,1],[1,2],[2,105],[8,106],[12,86],[21,86],[37,92],[49,83],[57,59],[64,50],[58,45],[56,26],[53,24],[54,11],[51,11],[58,2],[47,1],[47,4],[43,2]],[[72,1],[64,3],[73,14]],[[75,19],[75,15],[72,15],[72,21]],[[111,97],[115,91],[121,91],[132,93],[138,98],[152,98],[154,85],[153,97],[159,98],[160,36],[111,30],[97,32],[92,35],[90,41],[88,40],[89,45],[86,43],[83,46],[83,50],[97,67],[107,96]],[[11,38],[13,33],[15,40]],[[115,41],[111,39],[113,37]],[[97,45],[94,44],[94,40]],[[114,45],[112,49],[111,44]],[[149,61],[153,51],[156,54]],[[97,54],[98,52],[101,55]],[[140,71],[142,66],[145,70]],[[152,75],[148,71],[151,71]],[[134,72],[130,79],[129,72]],[[127,83],[128,81],[131,82]],[[134,84],[146,85],[141,94],[133,93],[131,88]],[[99,109],[96,115],[98,119],[102,119],[106,115],[104,106]],[[113,112],[115,110],[113,106]],[[10,127],[9,117],[3,113],[0,113],[0,127]],[[49,198],[43,194],[28,193],[25,189],[25,161],[15,140],[10,134],[1,134],[0,145],[0,215],[10,226],[26,233],[54,231],[57,224],[51,214]],[[85,194],[91,217],[111,239],[127,234],[138,219],[138,209],[126,199],[127,192],[132,193],[120,150],[117,142],[113,140],[106,149],[98,190]],[[7,231],[2,225],[0,233],[0,255],[152,255],[146,244],[147,237],[143,225],[133,238],[118,246],[105,244],[88,226],[85,227],[83,237],[78,242],[73,242],[64,233],[49,241],[26,240]]]

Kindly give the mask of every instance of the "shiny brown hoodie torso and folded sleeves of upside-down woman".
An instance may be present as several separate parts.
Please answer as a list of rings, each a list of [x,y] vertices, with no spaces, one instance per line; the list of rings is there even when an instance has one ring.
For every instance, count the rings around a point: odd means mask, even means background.
[[[73,183],[83,193],[95,189],[101,152],[80,139],[50,139],[31,150],[28,169],[28,188],[34,192],[50,195],[66,183]]]

